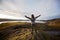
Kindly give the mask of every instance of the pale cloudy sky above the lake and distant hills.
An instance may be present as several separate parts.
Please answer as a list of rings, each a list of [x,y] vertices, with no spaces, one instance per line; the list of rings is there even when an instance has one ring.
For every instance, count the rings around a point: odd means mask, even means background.
[[[41,15],[40,20],[60,18],[60,0],[0,0],[0,18],[26,19],[31,14]]]

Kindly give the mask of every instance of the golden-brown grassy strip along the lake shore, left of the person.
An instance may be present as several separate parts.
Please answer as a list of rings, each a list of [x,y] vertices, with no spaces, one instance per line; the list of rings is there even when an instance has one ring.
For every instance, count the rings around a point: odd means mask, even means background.
[[[13,27],[15,25],[26,25],[28,24],[27,22],[8,22],[8,23],[2,23],[0,24],[0,30],[3,30],[3,29],[6,29],[6,28],[9,28],[9,27]]]

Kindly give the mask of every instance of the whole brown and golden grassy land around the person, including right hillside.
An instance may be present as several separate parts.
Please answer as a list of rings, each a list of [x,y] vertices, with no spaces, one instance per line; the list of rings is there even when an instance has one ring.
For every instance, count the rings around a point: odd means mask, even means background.
[[[26,28],[25,28],[26,27]],[[48,20],[47,23],[36,23],[34,26],[37,30],[37,35],[35,35],[33,40],[38,37],[38,40],[56,40],[60,37],[51,36],[49,34],[44,33],[45,30],[60,30],[60,19],[52,19]],[[11,29],[12,28],[12,29]],[[7,29],[7,30],[6,30]],[[3,30],[3,31],[2,31]],[[2,31],[2,32],[1,32]],[[1,40],[32,40],[30,39],[31,34],[31,24],[27,22],[8,22],[0,24],[0,39]],[[43,37],[43,39],[42,39]],[[51,39],[53,38],[53,39]]]

